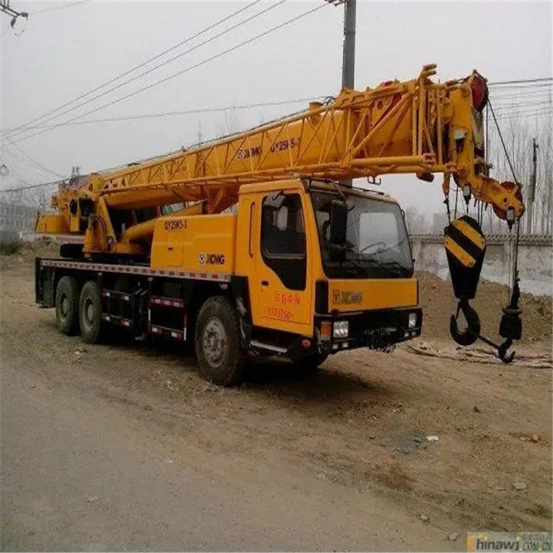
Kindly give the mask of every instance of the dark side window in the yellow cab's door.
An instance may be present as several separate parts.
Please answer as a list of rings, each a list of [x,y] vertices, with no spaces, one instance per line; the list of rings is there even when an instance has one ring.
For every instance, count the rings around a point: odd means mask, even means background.
[[[261,254],[290,290],[306,288],[306,227],[299,194],[265,196],[261,207]]]

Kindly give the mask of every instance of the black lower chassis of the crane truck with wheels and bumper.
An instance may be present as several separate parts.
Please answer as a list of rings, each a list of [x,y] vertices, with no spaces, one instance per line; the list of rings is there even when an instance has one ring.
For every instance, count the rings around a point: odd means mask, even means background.
[[[393,345],[420,335],[420,308],[371,313],[337,313],[325,308],[324,285],[316,298],[312,336],[257,328],[252,324],[247,279],[234,274],[153,269],[124,265],[35,259],[35,299],[43,308],[55,308],[57,326],[67,335],[80,333],[94,344],[109,329],[129,335],[194,341],[200,373],[210,382],[229,386],[243,376],[245,354],[289,359],[302,370],[319,366],[328,355],[367,346]],[[409,313],[417,325],[409,327]],[[321,333],[323,324],[348,319],[348,339]]]

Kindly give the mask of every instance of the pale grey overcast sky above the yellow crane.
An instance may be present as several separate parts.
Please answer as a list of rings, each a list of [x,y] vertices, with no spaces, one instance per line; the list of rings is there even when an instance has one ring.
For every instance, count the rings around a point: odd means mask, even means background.
[[[17,22],[15,32],[21,34],[16,36],[10,17],[0,13],[0,129],[13,129],[71,102],[250,3],[11,0],[10,6],[28,12],[29,18],[26,25],[24,20]],[[260,1],[157,62],[271,8],[265,14],[45,124],[83,115],[178,71],[183,73],[75,122],[337,95],[344,7],[325,4],[324,0]],[[321,5],[292,24],[266,32]],[[474,68],[490,82],[551,77],[552,19],[552,1],[358,0],[356,88],[393,78],[411,79],[430,62],[438,64],[436,78],[441,80],[465,77]],[[255,35],[261,37],[205,61]],[[23,180],[47,182],[55,174],[67,175],[74,166],[85,174],[126,165],[193,144],[198,138],[215,138],[235,126],[244,129],[266,122],[306,104],[303,100],[225,113],[64,125],[18,142],[19,149],[1,136],[0,161],[12,171],[1,177],[0,188]],[[39,130],[44,129],[33,133]],[[30,165],[25,154],[51,172]],[[439,179],[429,184],[414,176],[386,176],[381,188],[403,207],[416,207],[431,218],[431,213],[442,210],[440,185]]]

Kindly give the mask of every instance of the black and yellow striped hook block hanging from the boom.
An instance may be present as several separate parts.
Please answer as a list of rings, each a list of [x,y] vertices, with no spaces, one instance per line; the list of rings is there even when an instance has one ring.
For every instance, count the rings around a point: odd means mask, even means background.
[[[457,299],[474,299],[486,253],[486,238],[478,221],[462,216],[444,229],[453,292]]]

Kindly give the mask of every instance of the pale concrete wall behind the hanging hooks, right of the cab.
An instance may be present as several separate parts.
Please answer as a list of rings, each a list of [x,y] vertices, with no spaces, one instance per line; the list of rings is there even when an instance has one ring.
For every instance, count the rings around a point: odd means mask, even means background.
[[[507,284],[509,279],[509,236],[486,236],[487,249],[480,278]],[[513,236],[514,240],[514,236]],[[523,292],[553,295],[553,238],[549,235],[522,235],[518,247],[518,274]],[[440,234],[414,234],[411,247],[415,269],[429,271],[440,279],[449,274]],[[512,278],[512,277],[511,277]]]

